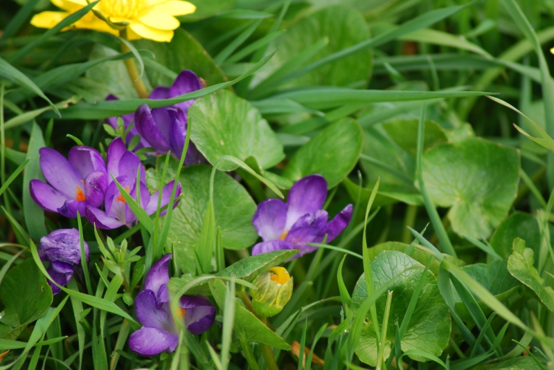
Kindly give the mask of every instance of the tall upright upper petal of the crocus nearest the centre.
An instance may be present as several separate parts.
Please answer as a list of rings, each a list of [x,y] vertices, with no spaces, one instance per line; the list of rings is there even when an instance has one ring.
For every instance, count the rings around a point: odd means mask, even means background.
[[[310,175],[298,180],[287,198],[287,223],[290,230],[301,216],[321,210],[327,198],[327,181],[321,175]]]

